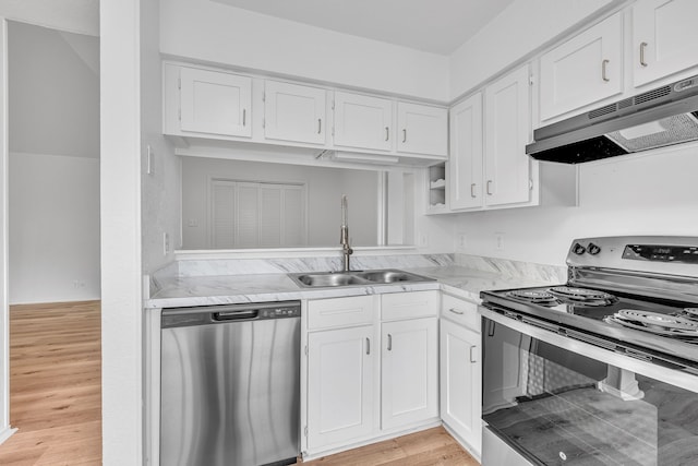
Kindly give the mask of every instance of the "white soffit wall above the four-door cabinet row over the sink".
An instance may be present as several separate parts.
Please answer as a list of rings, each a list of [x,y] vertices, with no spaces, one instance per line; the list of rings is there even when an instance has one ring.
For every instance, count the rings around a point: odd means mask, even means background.
[[[440,101],[448,57],[363,39],[210,0],[163,0],[164,53]]]

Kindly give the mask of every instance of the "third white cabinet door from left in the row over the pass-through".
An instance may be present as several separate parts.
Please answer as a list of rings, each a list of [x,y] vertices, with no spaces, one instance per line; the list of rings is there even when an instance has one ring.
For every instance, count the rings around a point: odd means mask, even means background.
[[[335,145],[390,151],[392,132],[390,100],[335,92]]]

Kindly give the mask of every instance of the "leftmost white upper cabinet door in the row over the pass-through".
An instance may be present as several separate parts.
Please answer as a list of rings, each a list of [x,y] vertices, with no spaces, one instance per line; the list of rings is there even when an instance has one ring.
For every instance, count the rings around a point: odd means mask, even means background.
[[[251,136],[252,80],[237,74],[182,68],[182,131]]]

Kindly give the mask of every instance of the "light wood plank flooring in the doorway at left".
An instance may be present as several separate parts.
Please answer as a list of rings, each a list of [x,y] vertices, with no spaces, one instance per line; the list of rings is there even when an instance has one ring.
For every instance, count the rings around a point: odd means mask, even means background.
[[[10,308],[10,425],[0,465],[101,464],[99,301]]]

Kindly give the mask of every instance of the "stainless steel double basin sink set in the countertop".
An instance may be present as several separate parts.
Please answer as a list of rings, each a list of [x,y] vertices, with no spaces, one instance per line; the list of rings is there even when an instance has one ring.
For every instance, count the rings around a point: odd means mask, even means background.
[[[370,286],[395,283],[434,282],[434,278],[396,268],[354,272],[306,272],[289,274],[289,277],[303,288],[327,288],[338,286]]]

